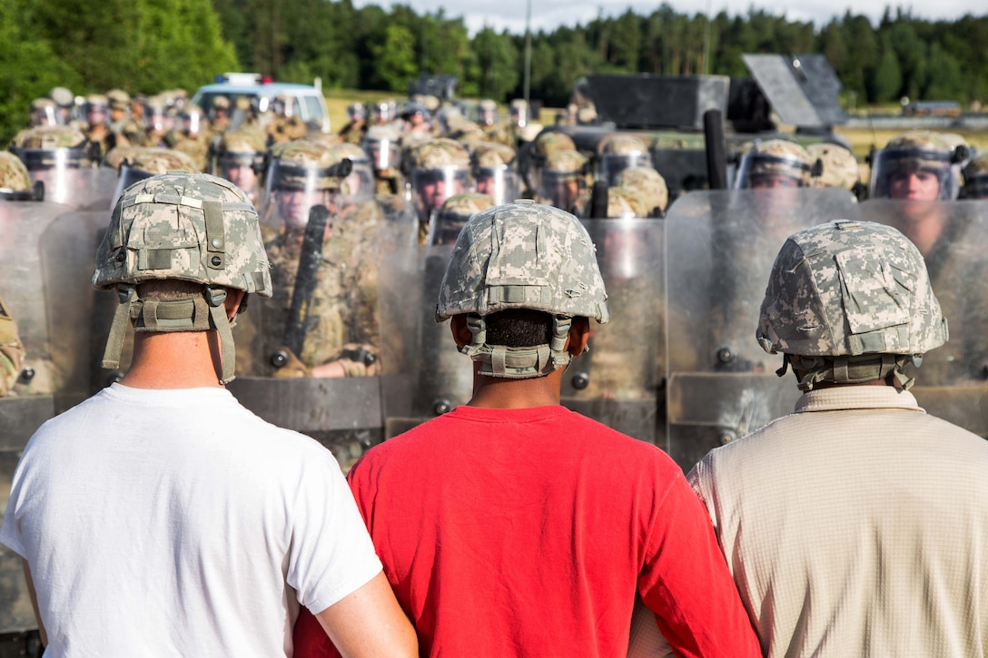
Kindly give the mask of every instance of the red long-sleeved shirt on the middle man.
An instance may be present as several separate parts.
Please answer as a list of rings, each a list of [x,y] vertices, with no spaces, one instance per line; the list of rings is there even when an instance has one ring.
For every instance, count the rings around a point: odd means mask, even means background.
[[[423,656],[622,657],[635,589],[678,655],[761,655],[680,467],[562,406],[458,407],[348,479]]]

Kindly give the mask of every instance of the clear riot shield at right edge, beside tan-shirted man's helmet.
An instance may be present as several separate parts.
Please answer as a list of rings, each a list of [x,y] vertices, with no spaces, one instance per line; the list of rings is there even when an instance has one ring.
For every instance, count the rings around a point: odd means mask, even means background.
[[[861,217],[916,244],[947,318],[947,344],[907,369],[920,406],[988,439],[988,202],[871,200]]]

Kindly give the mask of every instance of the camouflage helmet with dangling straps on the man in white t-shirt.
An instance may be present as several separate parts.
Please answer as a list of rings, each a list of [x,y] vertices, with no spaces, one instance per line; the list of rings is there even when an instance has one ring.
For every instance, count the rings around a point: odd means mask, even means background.
[[[202,284],[202,296],[145,301],[153,280]],[[128,321],[134,331],[219,332],[222,378],[233,378],[233,339],[223,288],[270,297],[271,274],[257,210],[232,183],[208,174],[168,173],[130,186],[117,201],[96,254],[93,287],[117,288],[120,306],[104,354],[118,368]]]

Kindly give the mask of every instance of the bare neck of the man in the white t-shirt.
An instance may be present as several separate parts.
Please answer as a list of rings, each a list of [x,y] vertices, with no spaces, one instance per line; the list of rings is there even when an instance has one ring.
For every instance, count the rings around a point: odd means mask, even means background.
[[[131,388],[206,388],[219,383],[215,331],[135,333],[133,359],[121,381]]]

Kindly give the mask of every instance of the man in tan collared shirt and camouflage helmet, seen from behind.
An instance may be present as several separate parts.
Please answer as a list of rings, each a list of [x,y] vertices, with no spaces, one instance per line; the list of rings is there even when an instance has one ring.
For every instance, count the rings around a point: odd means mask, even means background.
[[[794,233],[757,329],[795,413],[688,477],[764,655],[980,655],[988,444],[908,390],[905,365],[947,340],[918,249],[872,222]]]

